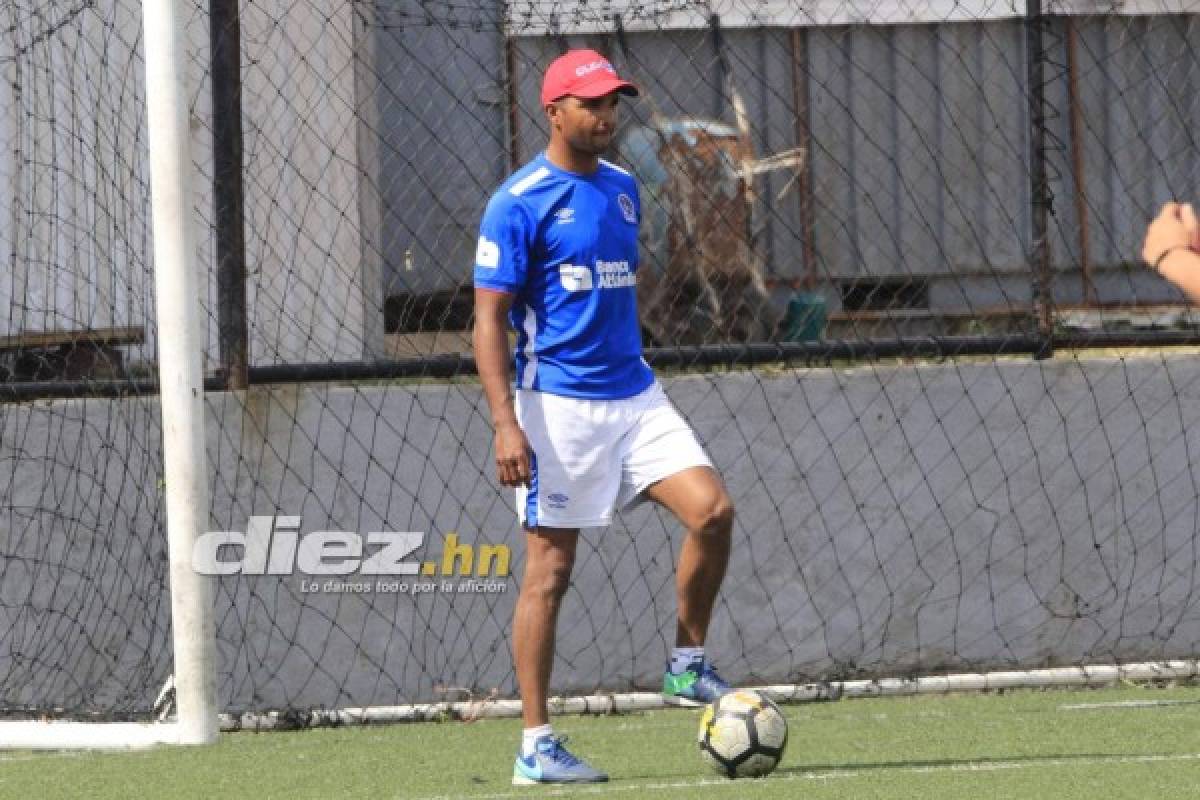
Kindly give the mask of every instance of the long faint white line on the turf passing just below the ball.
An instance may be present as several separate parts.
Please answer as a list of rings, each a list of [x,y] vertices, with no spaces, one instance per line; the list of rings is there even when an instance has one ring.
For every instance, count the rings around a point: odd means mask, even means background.
[[[581,795],[606,795],[622,792],[654,792],[659,789],[695,789],[695,788],[730,788],[737,789],[739,795],[762,788],[770,789],[782,782],[793,781],[833,781],[863,777],[866,775],[905,772],[910,775],[924,775],[937,772],[1000,772],[1004,770],[1042,769],[1046,766],[1061,768],[1074,766],[1076,764],[1105,765],[1105,764],[1160,764],[1170,762],[1198,762],[1200,753],[1171,753],[1151,756],[1085,756],[1080,758],[1034,758],[1014,759],[1007,762],[962,762],[958,764],[923,764],[913,766],[896,765],[894,768],[853,768],[839,770],[823,770],[820,772],[785,772],[762,781],[727,781],[725,778],[696,778],[694,781],[617,781],[613,783],[594,783],[578,787],[535,787],[530,793],[530,787],[515,788],[511,792],[496,794],[473,795],[425,795],[418,800],[503,800],[514,796],[539,796],[562,798]]]

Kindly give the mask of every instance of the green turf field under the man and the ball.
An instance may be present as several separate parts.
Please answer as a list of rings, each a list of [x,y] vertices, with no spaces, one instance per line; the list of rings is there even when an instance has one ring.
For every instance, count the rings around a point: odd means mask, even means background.
[[[6,753],[0,798],[1184,798],[1200,790],[1200,688],[1009,691],[785,706],[784,763],[707,771],[697,711],[557,717],[612,781],[510,786],[520,723],[222,735],[214,747]]]

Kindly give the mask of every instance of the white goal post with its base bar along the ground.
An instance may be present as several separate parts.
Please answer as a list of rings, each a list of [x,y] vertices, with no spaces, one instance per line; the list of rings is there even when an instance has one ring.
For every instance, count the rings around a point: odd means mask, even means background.
[[[176,714],[158,723],[5,721],[6,750],[203,745],[218,733],[212,578],[192,569],[209,486],[184,4],[154,0],[142,10]]]

